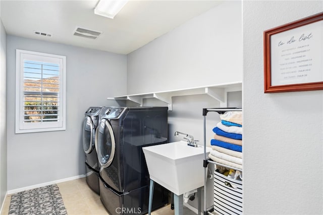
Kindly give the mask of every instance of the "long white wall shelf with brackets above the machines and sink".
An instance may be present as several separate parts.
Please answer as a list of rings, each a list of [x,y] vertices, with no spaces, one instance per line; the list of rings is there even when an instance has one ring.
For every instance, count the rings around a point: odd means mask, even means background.
[[[242,82],[233,82],[226,84],[218,84],[212,86],[187,88],[172,91],[161,91],[153,93],[142,93],[125,96],[117,96],[113,98],[107,98],[108,100],[129,100],[143,105],[143,99],[155,98],[168,104],[168,110],[173,110],[172,97],[173,96],[189,96],[189,95],[201,95],[206,94],[211,98],[216,99],[220,102],[221,107],[227,107],[227,93],[242,91]]]

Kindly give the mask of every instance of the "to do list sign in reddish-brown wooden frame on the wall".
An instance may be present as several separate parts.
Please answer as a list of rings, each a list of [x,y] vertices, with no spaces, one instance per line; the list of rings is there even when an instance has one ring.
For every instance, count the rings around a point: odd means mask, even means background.
[[[323,12],[263,32],[264,93],[323,90]]]

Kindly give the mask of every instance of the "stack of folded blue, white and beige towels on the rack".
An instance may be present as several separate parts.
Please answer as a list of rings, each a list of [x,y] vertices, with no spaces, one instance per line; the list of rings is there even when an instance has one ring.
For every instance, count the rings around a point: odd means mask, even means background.
[[[213,161],[242,169],[242,112],[229,111],[221,115],[221,122],[213,128],[212,151],[209,158]]]

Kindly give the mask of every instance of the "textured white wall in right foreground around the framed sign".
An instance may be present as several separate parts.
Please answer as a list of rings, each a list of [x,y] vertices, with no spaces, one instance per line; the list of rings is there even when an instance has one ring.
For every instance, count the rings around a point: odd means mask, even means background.
[[[323,91],[263,93],[263,31],[322,1],[243,2],[244,214],[323,213]]]

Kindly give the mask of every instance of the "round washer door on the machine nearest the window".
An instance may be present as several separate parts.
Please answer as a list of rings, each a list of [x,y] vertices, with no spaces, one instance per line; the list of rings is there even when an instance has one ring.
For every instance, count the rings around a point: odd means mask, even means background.
[[[86,116],[83,121],[83,150],[86,154],[94,149],[94,131],[91,117]]]

